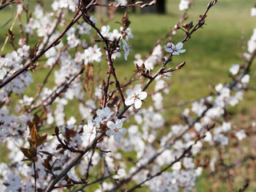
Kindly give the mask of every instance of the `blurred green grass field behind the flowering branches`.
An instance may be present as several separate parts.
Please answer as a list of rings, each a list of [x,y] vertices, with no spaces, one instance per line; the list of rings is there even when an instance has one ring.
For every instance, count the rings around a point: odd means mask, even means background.
[[[47,2],[50,1],[45,1],[46,5]],[[182,12],[178,11],[179,2],[179,0],[168,0],[166,3],[167,14],[130,13],[128,15],[131,21],[130,28],[134,34],[134,39],[130,40],[133,51],[128,57],[128,62],[124,63],[123,58],[117,60],[116,70],[120,77],[124,73],[126,74],[127,71],[134,70],[134,54],[140,53],[142,56],[146,56],[152,46],[154,46],[155,40],[162,38],[168,32],[170,26],[174,26],[182,14]],[[188,13],[189,19],[187,21],[196,23],[198,15],[203,14],[208,2],[206,0],[194,0],[194,6],[192,6]],[[214,85],[220,82],[230,82],[228,69],[232,64],[242,63],[242,31],[245,32],[245,40],[249,40],[255,28],[255,18],[250,17],[250,8],[252,6],[254,6],[254,1],[219,0],[216,6],[210,10],[204,29],[198,30],[192,35],[190,41],[184,44],[185,54],[174,57],[172,65],[176,66],[180,62],[186,61],[186,66],[182,70],[174,72],[171,78],[173,83],[170,86],[170,94],[164,100],[165,106],[202,98],[210,94]],[[110,23],[113,27],[119,27],[115,22],[121,21],[122,14],[117,14],[116,16]],[[0,18],[0,26],[2,26],[5,21],[11,18],[10,9],[1,10]],[[0,30],[0,45],[3,44],[4,34],[6,34],[6,30],[10,25],[11,22]],[[14,30],[18,30],[17,25],[14,27]],[[178,31],[174,42],[180,42],[183,37],[182,31]],[[10,50],[10,46],[6,46],[6,50],[3,53],[7,53]],[[251,85],[255,84],[255,64],[254,62],[250,72]],[[102,63],[102,71],[104,71],[103,69],[104,63]],[[36,71],[34,73],[34,82],[42,82],[44,74],[42,70]],[[102,72],[102,76],[104,74],[106,72]],[[48,85],[50,85],[50,82]],[[26,90],[26,93],[32,94],[37,86],[37,83],[34,83],[30,90]],[[254,91],[249,91],[245,94],[245,99],[239,103],[239,106],[234,106],[229,110],[236,114],[250,114],[250,111],[254,110],[256,106],[255,96]],[[74,114],[76,110],[76,107],[70,106],[70,112],[67,115]],[[170,119],[170,124],[180,122],[180,117],[177,115],[180,113],[178,107],[170,107],[166,112],[164,116],[166,119]],[[255,117],[255,114],[252,115]],[[235,120],[239,122],[238,118]],[[209,184],[207,179],[200,180],[197,191],[209,191],[207,190]],[[223,184],[220,191],[226,191],[225,185]]]

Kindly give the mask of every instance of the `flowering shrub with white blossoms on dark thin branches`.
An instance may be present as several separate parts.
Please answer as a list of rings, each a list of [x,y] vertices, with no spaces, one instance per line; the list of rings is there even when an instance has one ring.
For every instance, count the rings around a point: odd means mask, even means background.
[[[118,0],[107,5],[97,0],[54,0],[52,12],[39,3],[33,14],[22,0],[2,1],[1,9],[17,3],[20,38],[15,44],[10,29],[6,42],[14,50],[0,58],[0,142],[8,149],[8,162],[0,163],[1,191],[82,191],[93,185],[96,191],[131,191],[142,186],[151,191],[191,191],[204,168],[214,171],[217,160],[226,168],[221,149],[255,134],[243,129],[229,134],[232,125],[225,116],[227,107],[237,105],[243,90],[249,89],[256,30],[247,44],[244,64],[230,67],[231,82],[219,83],[213,94],[194,101],[191,109],[182,112],[183,124],[164,129],[168,119],[159,112],[164,111],[162,100],[170,90],[170,75],[185,65],[170,67],[173,58],[182,57],[183,46],[205,26],[206,14],[216,2],[209,2],[194,24],[186,23],[192,1],[182,0],[179,9],[185,13],[165,38],[182,32],[183,39],[176,45],[159,40],[145,59],[136,54],[133,76],[120,83],[114,62],[122,56],[131,59],[130,20],[125,12],[122,26],[110,30],[108,25],[101,26],[91,10],[97,6],[144,8],[154,6],[155,0],[130,4]],[[74,14],[69,23],[67,10]],[[30,41],[34,37],[36,44]],[[99,63],[108,67],[102,82],[95,81],[95,76],[102,78],[95,71]],[[45,77],[29,96],[26,90],[36,81],[32,73],[40,69],[46,70]],[[150,97],[153,105],[147,100]],[[77,105],[78,113],[67,119],[70,105]],[[207,146],[220,149],[219,154],[198,158],[206,155]],[[251,153],[235,165],[254,158]],[[240,191],[246,190],[248,181],[239,186]]]

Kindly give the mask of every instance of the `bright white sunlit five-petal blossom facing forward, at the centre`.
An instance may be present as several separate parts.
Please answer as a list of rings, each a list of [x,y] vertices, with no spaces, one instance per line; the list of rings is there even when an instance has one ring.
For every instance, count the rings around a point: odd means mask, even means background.
[[[141,108],[141,100],[145,99],[147,96],[146,91],[142,91],[142,88],[138,85],[134,86],[134,90],[126,90],[126,94],[128,95],[125,101],[126,106],[131,106],[132,104],[134,104],[134,107],[136,109]]]

